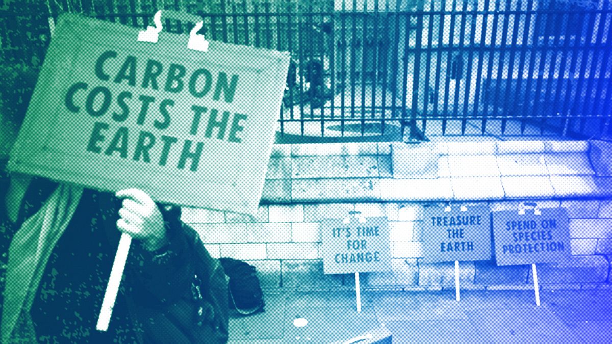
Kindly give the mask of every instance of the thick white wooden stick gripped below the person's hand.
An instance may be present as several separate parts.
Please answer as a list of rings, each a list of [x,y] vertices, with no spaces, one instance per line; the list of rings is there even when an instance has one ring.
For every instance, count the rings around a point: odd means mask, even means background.
[[[130,252],[130,244],[132,244],[132,237],[122,233],[117,253],[115,254],[113,268],[111,269],[111,276],[108,278],[108,285],[106,285],[106,293],[102,301],[102,308],[100,308],[98,323],[95,325],[95,329],[98,331],[108,330],[108,323],[110,323],[111,315],[113,314],[114,302],[119,291],[119,283],[121,283],[125,260],[127,260],[127,253]]]

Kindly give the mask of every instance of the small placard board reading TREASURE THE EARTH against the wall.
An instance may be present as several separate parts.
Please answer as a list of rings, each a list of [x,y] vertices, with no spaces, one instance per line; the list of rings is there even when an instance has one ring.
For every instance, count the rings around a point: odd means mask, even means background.
[[[425,208],[423,218],[423,260],[474,261],[491,258],[491,220],[486,206]]]

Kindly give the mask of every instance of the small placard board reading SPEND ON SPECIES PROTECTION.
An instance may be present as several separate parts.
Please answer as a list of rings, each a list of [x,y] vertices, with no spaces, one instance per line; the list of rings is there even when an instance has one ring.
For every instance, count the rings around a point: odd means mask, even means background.
[[[550,263],[569,258],[569,219],[564,208],[541,209],[542,214],[493,212],[495,256],[498,265]]]

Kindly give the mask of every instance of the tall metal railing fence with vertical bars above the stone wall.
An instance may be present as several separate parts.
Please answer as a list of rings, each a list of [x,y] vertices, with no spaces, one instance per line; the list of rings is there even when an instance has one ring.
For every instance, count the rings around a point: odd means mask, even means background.
[[[209,39],[291,51],[282,133],[408,128],[425,138],[451,127],[467,135],[497,126],[503,134],[513,124],[519,133],[535,125],[540,134],[612,136],[608,0],[168,2],[56,0],[4,10],[2,62],[35,71],[48,18],[61,12],[144,28],[164,7],[200,15]],[[191,27],[166,21],[173,32]]]

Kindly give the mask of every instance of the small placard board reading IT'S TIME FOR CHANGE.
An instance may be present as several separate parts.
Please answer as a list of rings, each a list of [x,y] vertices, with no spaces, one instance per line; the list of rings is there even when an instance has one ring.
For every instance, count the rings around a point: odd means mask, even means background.
[[[370,217],[365,223],[351,218],[321,222],[323,273],[347,274],[391,270],[389,222]]]

